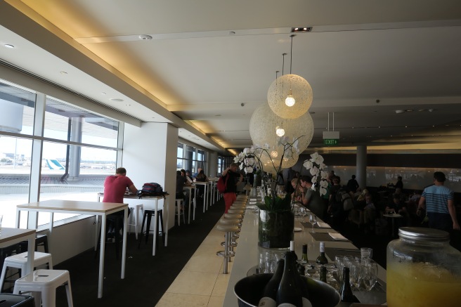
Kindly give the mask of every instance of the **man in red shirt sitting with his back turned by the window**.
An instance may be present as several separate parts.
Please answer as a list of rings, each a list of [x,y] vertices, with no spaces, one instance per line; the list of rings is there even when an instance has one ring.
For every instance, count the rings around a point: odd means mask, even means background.
[[[115,171],[115,175],[108,176],[104,181],[104,198],[103,202],[117,202],[122,204],[123,197],[126,192],[126,188],[129,189],[134,195],[138,192],[136,187],[133,184],[133,181],[126,176],[126,169],[124,167],[119,167]],[[130,211],[128,211],[129,215]],[[123,211],[115,212],[114,215],[123,215]],[[108,237],[113,237],[114,225],[108,220]]]

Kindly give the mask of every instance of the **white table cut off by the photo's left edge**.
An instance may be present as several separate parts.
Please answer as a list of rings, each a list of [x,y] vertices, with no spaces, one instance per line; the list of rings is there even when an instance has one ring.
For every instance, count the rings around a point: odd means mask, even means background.
[[[9,247],[27,240],[27,272],[34,271],[35,230],[19,228],[1,228],[0,248]]]

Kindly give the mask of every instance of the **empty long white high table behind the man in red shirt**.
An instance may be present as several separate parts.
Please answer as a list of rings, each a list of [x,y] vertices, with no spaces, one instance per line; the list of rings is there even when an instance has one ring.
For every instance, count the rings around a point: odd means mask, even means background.
[[[105,218],[109,214],[118,211],[124,211],[124,225],[126,226],[128,217],[128,205],[117,204],[114,202],[82,202],[75,200],[45,200],[44,202],[31,202],[30,204],[18,204],[16,206],[17,226],[20,225],[20,211],[36,211],[49,212],[50,223],[49,232],[53,235],[53,214],[54,213],[70,213],[70,214],[88,214],[96,215],[101,218],[100,229],[100,255],[99,255],[99,278],[98,278],[98,298],[103,297],[103,279],[104,279],[104,254],[105,254]],[[98,225],[98,224],[96,224]],[[123,228],[123,247],[122,247],[122,274],[121,278],[125,277],[125,261],[126,261],[126,229]],[[29,242],[30,244],[30,242]],[[35,247],[32,247],[34,250]]]

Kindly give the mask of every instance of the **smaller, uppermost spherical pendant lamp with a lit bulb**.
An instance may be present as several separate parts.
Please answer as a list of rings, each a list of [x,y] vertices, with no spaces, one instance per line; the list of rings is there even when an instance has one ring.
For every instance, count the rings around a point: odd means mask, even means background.
[[[276,115],[287,119],[298,118],[311,107],[312,88],[303,77],[284,74],[269,86],[267,100]]]

